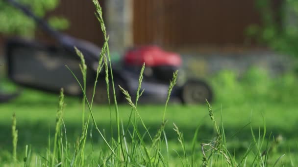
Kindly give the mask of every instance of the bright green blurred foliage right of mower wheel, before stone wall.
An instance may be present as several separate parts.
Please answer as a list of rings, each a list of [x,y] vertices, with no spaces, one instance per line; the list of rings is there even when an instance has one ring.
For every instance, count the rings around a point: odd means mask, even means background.
[[[216,101],[223,104],[296,103],[297,83],[294,73],[271,77],[268,71],[256,67],[241,77],[232,71],[222,71],[212,79]]]

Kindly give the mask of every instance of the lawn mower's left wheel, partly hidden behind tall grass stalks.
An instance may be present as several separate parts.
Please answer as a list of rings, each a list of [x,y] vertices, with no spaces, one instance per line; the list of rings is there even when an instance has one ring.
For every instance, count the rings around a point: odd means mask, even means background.
[[[123,83],[124,82],[119,79],[114,81],[116,100],[118,103],[121,103],[124,100],[124,96],[118,87],[118,85],[121,85],[125,89],[126,86],[124,86]],[[86,90],[86,96],[90,102],[92,99],[92,95],[93,95],[93,86],[90,85],[87,87],[87,90]],[[110,98],[110,103],[113,104],[114,103],[114,93],[113,93],[113,87],[112,87],[111,82],[109,83],[109,98]],[[98,81],[93,101],[96,104],[108,104],[109,103],[108,94],[107,94],[107,86],[106,86],[105,80]]]

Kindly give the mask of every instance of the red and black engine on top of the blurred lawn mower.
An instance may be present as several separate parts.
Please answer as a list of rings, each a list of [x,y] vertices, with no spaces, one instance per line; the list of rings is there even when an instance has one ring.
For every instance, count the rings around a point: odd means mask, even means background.
[[[124,55],[125,66],[141,67],[146,64],[144,75],[168,82],[175,70],[182,65],[180,55],[162,50],[158,46],[142,46],[128,50]]]

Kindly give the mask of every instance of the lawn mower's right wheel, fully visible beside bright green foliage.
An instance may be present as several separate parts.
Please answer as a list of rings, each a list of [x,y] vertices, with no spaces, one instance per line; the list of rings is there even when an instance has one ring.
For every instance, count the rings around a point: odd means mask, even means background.
[[[203,104],[212,101],[212,90],[208,84],[200,80],[189,80],[181,88],[183,104]]]

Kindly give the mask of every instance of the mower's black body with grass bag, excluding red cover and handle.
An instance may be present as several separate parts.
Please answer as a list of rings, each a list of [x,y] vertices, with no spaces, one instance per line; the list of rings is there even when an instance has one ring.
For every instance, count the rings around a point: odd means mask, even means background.
[[[58,93],[60,88],[63,87],[65,94],[82,96],[82,90],[79,84],[66,67],[67,65],[82,83],[82,74],[79,69],[80,59],[74,52],[57,46],[14,39],[7,42],[6,55],[8,76],[13,82],[54,93]],[[89,57],[86,57],[88,67],[86,94],[89,98],[93,91],[98,65],[98,61],[92,60],[98,59],[96,56],[90,57],[89,55]],[[120,92],[118,85],[126,89],[132,99],[135,99],[141,66],[125,65],[121,60],[112,64],[117,100],[119,102],[124,101],[124,96]],[[162,69],[167,69],[164,75],[161,74],[163,73]],[[178,68],[171,66],[146,67],[142,82],[142,90],[144,89],[142,101],[145,103],[165,102],[170,79],[173,77],[175,70],[178,70]],[[172,75],[171,72],[173,72]],[[161,77],[164,77],[164,79]],[[212,96],[210,95],[212,92],[207,84],[199,80],[186,80],[183,76],[179,76],[177,79],[177,84],[172,91],[173,99],[179,99],[183,102],[181,92],[183,86],[189,81],[196,81],[199,84],[203,84],[208,90],[208,96],[205,98],[211,101]],[[112,95],[111,81],[110,94]],[[110,100],[113,101],[113,98],[110,98]],[[102,69],[99,75],[95,102],[108,103],[104,69]]]

